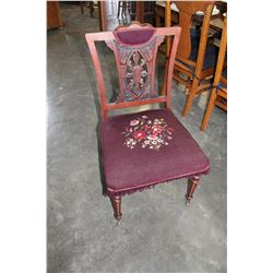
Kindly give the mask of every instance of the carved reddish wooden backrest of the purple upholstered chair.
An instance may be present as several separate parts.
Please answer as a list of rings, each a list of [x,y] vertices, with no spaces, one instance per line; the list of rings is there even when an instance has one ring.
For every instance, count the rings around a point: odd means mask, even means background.
[[[111,109],[136,105],[166,103],[170,107],[171,79],[175,56],[179,41],[180,27],[153,27],[132,22],[119,26],[114,32],[88,33],[85,35],[100,96],[102,112],[105,119]],[[167,70],[167,93],[159,95],[155,90],[155,62],[158,46],[165,36],[174,36]],[[107,103],[105,83],[95,41],[103,40],[114,51],[119,75],[119,96],[116,103]]]

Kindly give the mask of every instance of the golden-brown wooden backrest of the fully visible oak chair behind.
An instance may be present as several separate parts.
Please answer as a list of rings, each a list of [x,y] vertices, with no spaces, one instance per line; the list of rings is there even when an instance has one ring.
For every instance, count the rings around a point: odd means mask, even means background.
[[[198,11],[203,12],[201,26],[201,36],[198,50],[198,59],[195,63],[202,70],[205,47],[207,41],[207,33],[210,28],[210,20],[213,11],[213,1],[174,1],[179,10],[179,26],[181,26],[181,38],[178,44],[177,58],[188,64],[194,64],[189,60],[191,54],[191,35],[190,28],[193,16],[197,16]]]

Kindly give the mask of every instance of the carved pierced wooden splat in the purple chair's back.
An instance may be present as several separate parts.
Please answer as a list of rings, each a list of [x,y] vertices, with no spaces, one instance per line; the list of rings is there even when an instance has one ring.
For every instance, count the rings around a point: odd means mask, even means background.
[[[151,29],[149,29],[151,32]],[[145,34],[145,29],[135,31],[135,35]],[[119,74],[119,97],[117,103],[155,98],[158,92],[154,87],[155,61],[158,46],[164,36],[152,35],[142,44],[124,44],[116,35],[107,41],[114,50]]]

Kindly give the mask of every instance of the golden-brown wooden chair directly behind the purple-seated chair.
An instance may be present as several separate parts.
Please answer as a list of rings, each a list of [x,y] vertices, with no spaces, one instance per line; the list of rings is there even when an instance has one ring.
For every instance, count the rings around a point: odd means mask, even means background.
[[[217,47],[207,43],[213,1],[173,1],[179,10],[181,27],[174,79],[187,88],[187,99],[182,116],[190,110],[194,96],[211,87],[217,60]],[[197,15],[197,13],[203,15]],[[167,13],[167,11],[166,11]],[[201,26],[193,29],[193,19],[199,17]],[[170,20],[170,16],[168,16]]]

